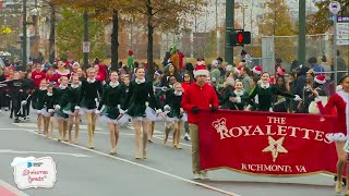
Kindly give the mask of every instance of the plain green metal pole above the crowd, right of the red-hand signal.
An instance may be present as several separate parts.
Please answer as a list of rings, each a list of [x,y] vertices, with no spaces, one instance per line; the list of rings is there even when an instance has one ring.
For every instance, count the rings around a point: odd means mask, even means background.
[[[305,0],[299,0],[298,62],[305,65]]]

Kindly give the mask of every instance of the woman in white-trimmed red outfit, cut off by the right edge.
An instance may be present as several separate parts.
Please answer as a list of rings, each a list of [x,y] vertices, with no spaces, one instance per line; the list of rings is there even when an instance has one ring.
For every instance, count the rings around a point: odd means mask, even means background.
[[[338,156],[337,182],[335,187],[336,194],[341,193],[341,174],[345,169],[346,158],[348,157],[348,147],[346,142],[349,137],[349,75],[345,75],[340,79],[340,85],[342,86],[342,89],[333,95],[325,107],[320,99],[317,90],[312,90],[313,95],[316,97],[315,102],[317,103],[318,110],[322,114],[330,115],[334,108],[337,110],[336,133],[326,134],[328,140],[335,142]],[[349,163],[347,163],[347,166],[349,166]],[[347,182],[349,182],[348,167]],[[349,196],[349,187],[347,187],[346,196]]]

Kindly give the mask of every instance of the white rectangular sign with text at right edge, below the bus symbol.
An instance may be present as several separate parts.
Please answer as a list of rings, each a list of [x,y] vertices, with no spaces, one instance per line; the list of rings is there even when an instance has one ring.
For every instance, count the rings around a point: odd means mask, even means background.
[[[336,23],[337,45],[349,45],[349,16],[338,15]]]

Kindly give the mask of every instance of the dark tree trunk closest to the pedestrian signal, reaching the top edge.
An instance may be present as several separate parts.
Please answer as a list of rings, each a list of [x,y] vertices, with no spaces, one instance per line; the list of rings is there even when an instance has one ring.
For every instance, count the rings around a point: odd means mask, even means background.
[[[154,25],[153,25],[153,7],[152,7],[152,1],[147,0],[147,20],[148,20],[148,48],[147,48],[147,63],[148,63],[148,69],[147,69],[147,79],[153,82],[154,79],[154,66],[153,66],[153,34],[154,34]]]

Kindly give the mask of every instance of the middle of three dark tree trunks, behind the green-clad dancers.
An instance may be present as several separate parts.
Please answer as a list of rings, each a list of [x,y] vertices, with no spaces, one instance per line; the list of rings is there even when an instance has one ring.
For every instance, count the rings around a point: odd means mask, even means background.
[[[112,14],[112,32],[111,32],[111,70],[118,70],[118,49],[119,49],[119,11],[113,10]]]

